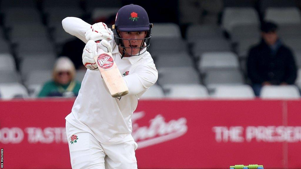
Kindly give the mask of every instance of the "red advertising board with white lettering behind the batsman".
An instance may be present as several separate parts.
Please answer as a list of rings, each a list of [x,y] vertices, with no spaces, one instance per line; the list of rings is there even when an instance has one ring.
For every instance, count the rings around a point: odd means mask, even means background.
[[[4,168],[71,168],[74,100],[0,101]],[[132,116],[139,168],[300,168],[301,101],[141,100]]]

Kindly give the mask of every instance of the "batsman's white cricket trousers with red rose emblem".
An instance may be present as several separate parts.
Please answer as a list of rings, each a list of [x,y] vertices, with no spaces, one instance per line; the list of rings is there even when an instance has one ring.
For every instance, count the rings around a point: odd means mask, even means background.
[[[137,143],[102,144],[95,137],[66,121],[72,169],[137,169]]]

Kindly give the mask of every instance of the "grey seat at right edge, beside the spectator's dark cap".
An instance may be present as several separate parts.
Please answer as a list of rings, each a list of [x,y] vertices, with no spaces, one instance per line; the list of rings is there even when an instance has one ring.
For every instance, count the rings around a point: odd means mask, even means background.
[[[301,38],[301,24],[281,24],[279,25],[278,35],[280,38]]]

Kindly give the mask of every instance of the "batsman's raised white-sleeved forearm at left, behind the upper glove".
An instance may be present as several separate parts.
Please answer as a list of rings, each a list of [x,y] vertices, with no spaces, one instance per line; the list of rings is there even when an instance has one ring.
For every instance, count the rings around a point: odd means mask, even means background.
[[[85,38],[85,31],[91,27],[90,24],[80,18],[66,17],[62,20],[62,25],[64,30],[70,35],[76,36],[85,43],[88,42]]]

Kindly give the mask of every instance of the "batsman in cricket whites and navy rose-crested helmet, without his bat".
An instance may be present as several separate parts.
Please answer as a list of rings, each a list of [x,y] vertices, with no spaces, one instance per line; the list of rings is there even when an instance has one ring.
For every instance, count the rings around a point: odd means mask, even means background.
[[[133,4],[120,8],[113,31],[105,23],[90,25],[76,17],[65,18],[62,25],[86,43],[82,61],[88,68],[66,117],[72,168],[137,169],[131,117],[139,97],[158,78],[147,52],[152,28],[147,12]],[[95,71],[98,68],[93,58],[98,50],[112,53],[129,94],[121,98],[110,95],[100,72]]]

